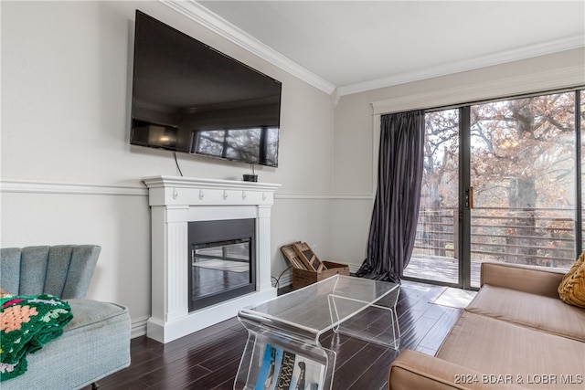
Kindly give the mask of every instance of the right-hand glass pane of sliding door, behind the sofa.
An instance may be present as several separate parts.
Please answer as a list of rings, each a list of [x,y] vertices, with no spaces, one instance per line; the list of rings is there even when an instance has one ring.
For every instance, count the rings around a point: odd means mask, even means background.
[[[482,261],[574,261],[574,96],[472,106],[472,269]]]

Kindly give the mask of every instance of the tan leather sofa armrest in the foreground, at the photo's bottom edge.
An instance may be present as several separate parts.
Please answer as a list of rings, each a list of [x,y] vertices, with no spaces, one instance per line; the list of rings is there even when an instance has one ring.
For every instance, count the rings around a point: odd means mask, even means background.
[[[516,378],[495,377],[418,351],[404,350],[390,364],[388,390],[523,389]]]

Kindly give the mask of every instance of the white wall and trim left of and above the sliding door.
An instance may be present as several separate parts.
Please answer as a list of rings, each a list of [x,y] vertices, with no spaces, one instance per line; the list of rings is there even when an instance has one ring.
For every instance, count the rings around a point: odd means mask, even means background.
[[[585,85],[585,49],[346,95],[335,108],[331,256],[355,269],[366,258],[376,189],[379,113]],[[373,110],[376,108],[376,113]],[[357,260],[357,261],[356,261]]]

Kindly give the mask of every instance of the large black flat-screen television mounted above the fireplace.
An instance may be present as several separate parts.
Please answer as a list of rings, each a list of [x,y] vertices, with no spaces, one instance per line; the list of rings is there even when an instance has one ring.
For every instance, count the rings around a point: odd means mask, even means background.
[[[278,166],[281,90],[136,10],[130,143]]]

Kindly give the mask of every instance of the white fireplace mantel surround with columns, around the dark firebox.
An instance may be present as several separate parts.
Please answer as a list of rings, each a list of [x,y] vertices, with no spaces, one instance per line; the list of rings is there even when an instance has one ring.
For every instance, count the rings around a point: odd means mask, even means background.
[[[145,177],[152,221],[152,313],[148,337],[168,343],[276,296],[271,286],[271,206],[280,184]],[[256,290],[188,311],[188,222],[256,219]]]

